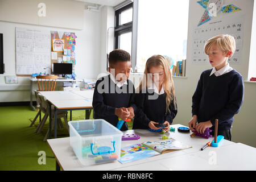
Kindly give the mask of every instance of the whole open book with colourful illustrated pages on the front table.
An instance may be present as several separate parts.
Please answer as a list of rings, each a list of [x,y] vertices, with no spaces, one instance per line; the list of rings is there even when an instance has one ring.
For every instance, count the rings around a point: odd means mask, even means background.
[[[121,148],[121,156],[118,161],[123,164],[190,147],[192,146],[183,144],[172,138],[154,142],[143,142]]]

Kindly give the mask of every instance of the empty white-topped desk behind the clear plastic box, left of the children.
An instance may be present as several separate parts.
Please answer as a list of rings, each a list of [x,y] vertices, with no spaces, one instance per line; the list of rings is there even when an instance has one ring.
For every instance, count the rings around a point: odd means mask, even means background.
[[[84,91],[40,91],[48,100],[49,108],[54,106],[54,138],[57,138],[57,113],[59,111],[86,110],[85,119],[89,119],[89,110],[93,109],[92,97],[93,90]],[[49,109],[49,118],[52,110]],[[71,118],[72,120],[72,118]],[[51,122],[49,119],[49,138],[51,138]]]

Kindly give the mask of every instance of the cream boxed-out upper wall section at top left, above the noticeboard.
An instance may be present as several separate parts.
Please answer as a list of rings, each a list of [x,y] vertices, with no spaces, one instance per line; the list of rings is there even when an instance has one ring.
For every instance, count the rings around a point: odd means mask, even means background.
[[[1,0],[0,20],[81,30],[84,6],[73,0]]]

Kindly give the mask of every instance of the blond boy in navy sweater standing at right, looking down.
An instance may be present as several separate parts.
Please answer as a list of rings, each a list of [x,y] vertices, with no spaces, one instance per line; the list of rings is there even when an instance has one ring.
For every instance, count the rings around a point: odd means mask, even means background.
[[[233,117],[242,106],[244,90],[242,76],[228,63],[235,50],[236,42],[230,35],[217,35],[205,43],[204,51],[213,69],[201,73],[193,94],[192,119],[188,123],[191,131],[202,134],[209,127],[213,135],[218,119],[218,135],[231,140]]]

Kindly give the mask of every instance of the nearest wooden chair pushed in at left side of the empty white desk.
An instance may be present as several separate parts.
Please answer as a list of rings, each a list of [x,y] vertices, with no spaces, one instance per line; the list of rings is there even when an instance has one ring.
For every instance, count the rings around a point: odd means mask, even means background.
[[[40,105],[42,106],[42,111],[44,113],[44,117],[43,117],[42,121],[39,123],[38,127],[36,128],[36,130],[35,130],[36,133],[40,133],[42,131],[43,126],[46,123],[47,118],[49,116],[48,101],[46,101],[45,98],[40,93],[38,94],[38,97],[39,97],[39,100],[40,100]],[[51,110],[52,110],[51,116],[52,116],[52,129],[53,129],[54,128],[54,107],[53,106],[52,106]],[[61,122],[61,118],[64,118],[65,125],[67,126],[67,129],[68,129],[68,132],[69,132],[69,126],[68,126],[68,120],[67,120],[67,117],[66,117],[66,113],[67,113],[67,111],[61,111],[57,114],[57,128],[63,128],[63,123]],[[47,140],[48,135],[49,135],[49,129],[46,133],[46,136],[43,139],[44,141]]]

